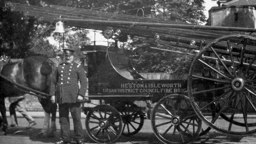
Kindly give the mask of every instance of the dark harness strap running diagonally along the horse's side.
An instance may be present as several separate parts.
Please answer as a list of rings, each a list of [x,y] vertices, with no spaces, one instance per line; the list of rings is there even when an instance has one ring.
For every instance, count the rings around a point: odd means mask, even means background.
[[[4,62],[4,64],[0,67],[0,71],[2,71],[2,68],[3,68],[8,62],[12,62],[12,61],[11,61],[11,58],[8,57],[8,56],[1,56],[1,58],[0,58],[0,64],[1,64],[2,62]],[[39,98],[44,98],[44,99],[46,99],[45,96],[50,97],[50,95],[47,94],[47,93],[37,91],[37,90],[35,90],[35,89],[29,88],[29,87],[27,87],[27,86],[24,86],[24,85],[22,85],[22,84],[18,84],[18,83],[16,83],[16,82],[14,82],[12,79],[10,79],[10,78],[8,78],[8,77],[6,77],[6,76],[3,76],[1,73],[0,73],[0,77],[3,78],[3,79],[5,79],[6,81],[10,82],[11,84],[13,84],[13,85],[14,85],[17,89],[19,89],[20,91],[26,92],[26,93],[28,93],[28,94],[30,94],[30,95],[34,95],[34,96],[39,97]],[[44,95],[44,96],[42,96],[42,95]]]

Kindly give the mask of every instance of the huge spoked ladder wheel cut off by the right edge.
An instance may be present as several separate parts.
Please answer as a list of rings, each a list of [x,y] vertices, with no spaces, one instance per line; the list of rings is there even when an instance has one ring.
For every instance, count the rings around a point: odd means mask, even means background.
[[[188,96],[196,114],[213,129],[240,136],[256,132],[255,54],[256,37],[229,35],[207,44],[193,60]],[[210,101],[200,107],[196,100],[202,97]],[[204,109],[214,103],[216,115],[211,118]]]

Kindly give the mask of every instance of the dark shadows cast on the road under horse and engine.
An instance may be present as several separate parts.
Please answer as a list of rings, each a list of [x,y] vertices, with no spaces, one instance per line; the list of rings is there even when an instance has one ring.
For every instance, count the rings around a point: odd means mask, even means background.
[[[57,131],[55,137],[48,138],[40,138],[38,137],[38,133],[41,132],[41,129],[31,128],[26,129],[24,127],[15,127],[7,129],[7,135],[15,135],[15,136],[26,136],[29,137],[32,141],[40,141],[44,143],[54,143],[60,140],[60,130]],[[74,131],[71,131],[74,136]],[[96,143],[90,139],[87,133],[84,130],[85,142],[87,143]],[[222,134],[220,132],[208,132],[206,135],[198,137],[193,143],[210,143],[210,144],[219,144],[219,143],[248,143],[247,140],[255,139],[255,135],[240,137],[240,136],[230,136],[226,134]],[[75,143],[74,137],[72,140]],[[119,139],[115,141],[115,143],[133,143],[133,144],[152,144],[152,143],[160,143],[160,141],[156,138],[153,132],[139,132],[131,137],[120,136]]]

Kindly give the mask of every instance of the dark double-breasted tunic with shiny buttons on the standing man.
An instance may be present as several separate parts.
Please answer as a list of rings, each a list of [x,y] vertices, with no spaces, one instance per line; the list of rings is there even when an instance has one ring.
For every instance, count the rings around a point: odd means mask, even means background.
[[[55,71],[57,83],[51,83],[51,95],[55,95],[55,101],[62,103],[76,103],[77,95],[85,96],[87,90],[87,77],[83,67],[72,62],[70,64],[60,63]],[[53,79],[54,80],[54,79]],[[80,82],[80,89],[78,86]]]

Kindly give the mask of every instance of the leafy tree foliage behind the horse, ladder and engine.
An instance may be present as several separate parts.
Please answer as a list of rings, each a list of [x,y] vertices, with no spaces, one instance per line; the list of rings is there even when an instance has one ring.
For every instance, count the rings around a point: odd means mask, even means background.
[[[157,18],[200,24],[205,22],[204,0],[11,0],[15,3],[47,6],[49,4],[113,12],[128,15]],[[142,11],[143,10],[143,11]],[[13,58],[31,55],[55,57],[54,53],[62,48],[62,35],[53,34],[54,24],[26,17],[20,13],[0,11],[0,52]],[[107,26],[106,26],[107,27]],[[81,41],[88,40],[84,29],[65,27],[65,46],[76,47]],[[49,37],[60,42],[60,47],[52,45]],[[182,73],[188,68],[190,57],[185,54],[156,51],[148,45],[166,48],[150,40],[133,40],[133,62],[139,72]],[[142,44],[139,44],[142,43]],[[80,53],[77,52],[79,55]]]

